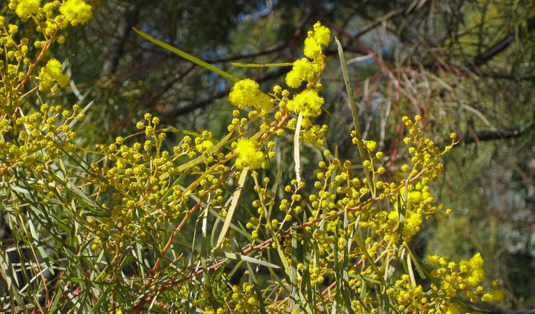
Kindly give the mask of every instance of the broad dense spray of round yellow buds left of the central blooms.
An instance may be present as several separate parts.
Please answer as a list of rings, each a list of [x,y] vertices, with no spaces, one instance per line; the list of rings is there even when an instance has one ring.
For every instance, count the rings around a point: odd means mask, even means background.
[[[109,160],[91,163],[91,170],[105,182],[99,186],[97,198],[106,195],[110,200],[103,205],[108,211],[107,216],[99,218],[99,224],[106,232],[117,233],[120,230],[119,234],[126,232],[149,237],[155,225],[167,225],[183,213],[192,193],[198,197],[213,193],[213,208],[223,202],[218,177],[229,167],[213,165],[215,158],[223,159],[225,156],[214,151],[211,132],[204,130],[194,141],[186,135],[179,146],[167,151],[162,149],[166,133],[158,129],[160,119],[146,113],[144,120],[136,124],[146,136],[144,142],[127,144],[128,137],[116,137],[112,144],[97,145],[99,154]],[[182,162],[188,158],[198,161],[184,167]],[[200,164],[213,167],[202,170]],[[185,175],[184,172],[191,177],[202,174],[203,179],[195,181],[185,191],[180,185],[172,184],[176,177]],[[97,236],[96,241],[110,243],[105,239],[105,232]]]

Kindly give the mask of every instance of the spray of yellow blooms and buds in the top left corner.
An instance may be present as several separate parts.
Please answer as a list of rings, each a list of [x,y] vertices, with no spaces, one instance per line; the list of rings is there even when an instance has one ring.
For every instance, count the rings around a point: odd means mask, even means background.
[[[8,19],[0,15],[0,45],[3,45],[6,54],[6,63],[0,63],[0,103],[4,104],[2,109],[9,114],[21,105],[19,97],[24,94],[22,89],[31,80],[33,72],[43,64],[45,56],[50,60],[38,74],[40,91],[55,93],[68,83],[68,77],[61,73],[61,63],[45,52],[49,51],[54,39],[60,44],[65,42],[65,37],[59,34],[61,29],[87,22],[92,8],[82,0],[9,0],[8,8],[22,22],[29,21],[29,25],[42,35],[33,36],[31,40],[19,38],[17,35],[22,24],[6,24]],[[35,52],[35,56],[29,54],[32,45],[40,50]]]

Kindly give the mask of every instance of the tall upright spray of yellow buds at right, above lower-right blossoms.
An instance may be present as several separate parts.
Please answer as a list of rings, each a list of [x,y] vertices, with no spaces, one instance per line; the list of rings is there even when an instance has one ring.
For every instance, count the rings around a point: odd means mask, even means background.
[[[451,212],[451,209],[444,209],[442,204],[433,204],[429,184],[444,172],[444,165],[439,162],[439,157],[456,144],[455,138],[452,137],[451,145],[441,151],[432,140],[421,135],[422,130],[417,126],[420,120],[420,116],[416,116],[414,121],[403,117],[405,125],[409,127],[410,136],[405,137],[404,142],[409,145],[412,167],[409,164],[402,165],[402,172],[397,176],[400,181],[397,184],[388,184],[384,181],[372,184],[379,193],[379,198],[389,197],[393,210],[388,213],[382,211],[380,215],[370,216],[370,222],[366,220],[362,222],[372,223],[379,227],[377,232],[385,234],[387,239],[395,243],[400,243],[400,241],[409,243],[414,234],[420,231],[424,218],[431,218],[438,213],[447,216]],[[358,139],[354,137],[353,142],[358,143]],[[372,156],[371,153],[376,149],[377,144],[365,141],[364,146],[370,153],[370,160],[363,162],[364,167],[367,167],[374,177],[376,174],[386,172],[384,167],[379,167],[377,170],[373,167],[374,158],[379,159],[383,156],[380,151]],[[394,230],[398,232],[393,232]]]

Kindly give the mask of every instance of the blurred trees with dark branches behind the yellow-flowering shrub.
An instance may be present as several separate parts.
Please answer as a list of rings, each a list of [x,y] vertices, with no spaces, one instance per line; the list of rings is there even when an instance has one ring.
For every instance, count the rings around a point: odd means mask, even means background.
[[[419,237],[420,252],[458,259],[482,253],[489,278],[508,290],[506,308],[535,306],[535,3],[474,1],[93,1],[95,17],[61,49],[73,82],[65,101],[95,100],[88,144],[112,142],[152,112],[176,128],[225,131],[229,84],[137,36],[132,27],[261,86],[287,67],[239,63],[301,57],[316,21],[344,46],[364,137],[379,138],[391,169],[404,114],[423,116],[438,142],[462,144],[446,159],[442,201],[454,211]],[[77,51],[70,55],[68,52]],[[336,47],[322,77],[326,147],[342,157],[351,121]],[[328,61],[329,62],[329,61]],[[345,136],[345,135],[344,135]],[[99,140],[96,140],[99,139]],[[288,151],[288,158],[291,157]],[[304,165],[306,167],[306,165]],[[454,195],[455,197],[453,197]]]

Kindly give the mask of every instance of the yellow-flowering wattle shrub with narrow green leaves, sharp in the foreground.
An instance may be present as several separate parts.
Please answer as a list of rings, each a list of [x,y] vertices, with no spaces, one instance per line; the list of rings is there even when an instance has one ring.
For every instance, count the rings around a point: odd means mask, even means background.
[[[412,158],[386,169],[361,138],[338,42],[354,118],[347,149],[359,161],[302,154],[320,151],[326,132],[314,123],[331,42],[319,22],[302,59],[269,65],[292,67],[288,88],[269,93],[139,32],[234,81],[239,110],[220,139],[160,128],[147,113],[138,133],[84,147],[75,131],[92,104],[59,103],[69,79],[52,52],[91,6],[41,2],[12,0],[0,17],[1,311],[460,313],[501,299],[497,283],[482,286],[479,253],[424,263],[411,246],[425,220],[451,212],[430,184],[455,134],[440,148],[421,117],[404,117]],[[291,162],[281,157],[289,143]]]

